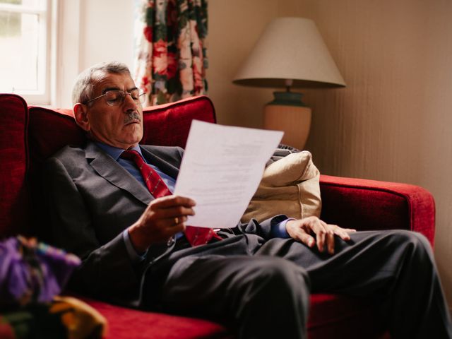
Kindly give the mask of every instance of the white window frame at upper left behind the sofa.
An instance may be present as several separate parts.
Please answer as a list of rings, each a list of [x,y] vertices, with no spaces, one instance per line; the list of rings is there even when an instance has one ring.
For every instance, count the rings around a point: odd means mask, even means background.
[[[42,31],[42,42],[38,44],[38,66],[37,81],[38,90],[13,90],[22,96],[28,105],[50,105],[51,103],[51,83],[54,78],[52,71],[52,61],[54,61],[55,53],[52,53],[52,44],[55,41],[55,32],[57,29],[57,20],[54,18],[52,11],[57,5],[56,0],[46,0],[42,8],[30,8],[24,5],[0,4],[0,11],[8,11],[12,13],[28,13],[39,16],[40,31]],[[53,14],[53,15],[52,15]]]

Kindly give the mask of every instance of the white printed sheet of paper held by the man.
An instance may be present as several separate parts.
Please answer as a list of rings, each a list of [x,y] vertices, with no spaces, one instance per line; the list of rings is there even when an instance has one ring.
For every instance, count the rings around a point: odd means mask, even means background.
[[[235,227],[281,138],[281,131],[194,120],[174,189],[196,201],[186,225]]]

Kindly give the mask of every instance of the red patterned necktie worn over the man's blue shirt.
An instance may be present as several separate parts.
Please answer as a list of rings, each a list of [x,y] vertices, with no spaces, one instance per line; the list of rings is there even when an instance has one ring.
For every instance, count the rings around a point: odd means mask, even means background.
[[[138,169],[140,169],[146,187],[148,187],[150,194],[152,194],[154,198],[160,198],[160,196],[169,196],[172,194],[160,175],[155,172],[153,167],[150,167],[144,162],[140,153],[136,150],[124,150],[121,157],[135,162]],[[213,237],[219,240],[222,239],[211,228],[196,226],[187,226],[185,229],[185,237],[191,246],[207,244]]]

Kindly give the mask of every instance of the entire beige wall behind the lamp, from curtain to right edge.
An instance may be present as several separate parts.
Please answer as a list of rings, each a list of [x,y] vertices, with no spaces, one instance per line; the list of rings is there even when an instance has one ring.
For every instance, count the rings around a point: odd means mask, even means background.
[[[452,1],[211,0],[218,121],[262,126],[271,90],[231,81],[266,23],[313,19],[347,87],[307,90],[307,149],[324,174],[417,184],[436,199],[436,261],[452,304]]]

